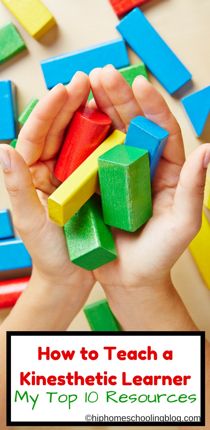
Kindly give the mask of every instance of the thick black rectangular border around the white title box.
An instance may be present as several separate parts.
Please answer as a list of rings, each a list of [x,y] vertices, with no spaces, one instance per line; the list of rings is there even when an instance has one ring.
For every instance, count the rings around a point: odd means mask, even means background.
[[[201,337],[201,421],[183,422],[182,426],[205,426],[205,332],[6,332],[6,425],[7,426],[177,426],[174,421],[11,421],[11,336],[200,336]]]

